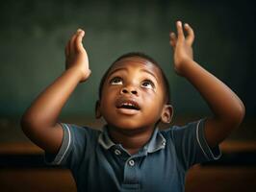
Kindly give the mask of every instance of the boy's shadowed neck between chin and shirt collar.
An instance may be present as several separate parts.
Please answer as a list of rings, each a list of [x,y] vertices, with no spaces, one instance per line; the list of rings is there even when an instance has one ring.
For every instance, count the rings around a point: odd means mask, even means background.
[[[116,144],[121,144],[130,155],[137,154],[141,147],[148,142],[154,132],[154,128],[140,130],[121,130],[113,127],[108,128],[111,139]]]

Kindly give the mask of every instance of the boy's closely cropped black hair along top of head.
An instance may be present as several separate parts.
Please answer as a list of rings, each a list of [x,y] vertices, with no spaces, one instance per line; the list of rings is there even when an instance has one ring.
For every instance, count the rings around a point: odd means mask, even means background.
[[[110,70],[112,69],[112,67],[114,66],[115,62],[117,62],[119,60],[123,60],[125,58],[132,58],[132,57],[138,57],[138,58],[142,58],[144,60],[149,60],[151,63],[153,63],[160,70],[160,72],[161,72],[161,74],[163,76],[164,84],[165,84],[165,88],[166,88],[166,104],[170,104],[170,89],[169,89],[169,84],[168,84],[168,81],[167,81],[167,78],[166,78],[166,75],[165,75],[163,69],[161,68],[161,66],[159,65],[159,63],[156,60],[154,60],[150,56],[148,56],[148,55],[146,55],[144,53],[141,53],[141,52],[130,52],[130,53],[124,54],[124,55],[120,56],[119,58],[117,58],[111,64],[111,66],[108,68],[108,70],[105,72],[105,74],[103,75],[103,77],[100,80],[99,91],[98,91],[99,99],[101,99],[101,96],[102,96],[103,84],[106,81],[107,76],[108,76]]]

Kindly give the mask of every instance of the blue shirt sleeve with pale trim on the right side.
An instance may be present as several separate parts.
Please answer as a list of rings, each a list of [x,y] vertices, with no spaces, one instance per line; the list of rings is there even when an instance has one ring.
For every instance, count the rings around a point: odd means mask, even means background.
[[[193,164],[217,160],[221,156],[219,146],[210,148],[204,133],[204,122],[201,119],[183,127],[174,126],[172,139],[177,156],[186,169]]]

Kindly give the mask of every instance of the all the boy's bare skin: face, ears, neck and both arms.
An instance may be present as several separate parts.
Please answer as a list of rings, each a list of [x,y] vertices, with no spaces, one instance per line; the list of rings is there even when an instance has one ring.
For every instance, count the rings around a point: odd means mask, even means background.
[[[212,109],[213,116],[204,124],[205,137],[210,147],[216,147],[243,121],[243,103],[230,88],[192,59],[192,28],[188,24],[183,26],[181,21],[177,21],[176,28],[177,36],[170,33],[175,72],[186,78]],[[71,37],[65,47],[63,75],[38,96],[21,120],[27,136],[48,153],[56,154],[62,144],[64,132],[58,117],[65,102],[77,84],[90,77],[89,60],[82,44],[84,35],[84,31],[78,30]],[[113,80],[116,77],[119,79]],[[166,105],[165,90],[159,68],[150,61],[138,57],[119,60],[103,85],[96,117],[105,118],[116,143],[122,144],[130,154],[136,154],[150,139],[159,120],[171,121],[172,107]],[[123,103],[137,105],[140,110],[120,108]]]

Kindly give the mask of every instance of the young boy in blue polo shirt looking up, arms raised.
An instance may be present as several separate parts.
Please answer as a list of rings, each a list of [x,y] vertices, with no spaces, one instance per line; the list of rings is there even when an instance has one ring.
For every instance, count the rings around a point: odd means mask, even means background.
[[[47,161],[70,168],[78,191],[184,191],[187,170],[218,159],[218,144],[241,124],[241,100],[192,59],[192,28],[181,21],[176,28],[174,69],[200,92],[212,117],[159,131],[157,124],[172,117],[166,77],[155,60],[133,53],[115,60],[100,84],[96,117],[107,122],[103,132],[58,123],[76,85],[90,77],[82,30],[65,47],[63,75],[24,113],[23,131]]]

